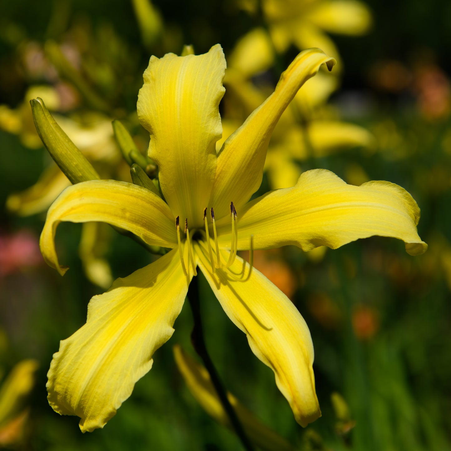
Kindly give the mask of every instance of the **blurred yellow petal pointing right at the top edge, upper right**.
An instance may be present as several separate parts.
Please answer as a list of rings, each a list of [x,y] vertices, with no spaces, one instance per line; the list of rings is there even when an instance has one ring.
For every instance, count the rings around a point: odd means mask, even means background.
[[[371,13],[357,0],[323,0],[312,8],[305,20],[328,32],[358,36],[371,26]]]

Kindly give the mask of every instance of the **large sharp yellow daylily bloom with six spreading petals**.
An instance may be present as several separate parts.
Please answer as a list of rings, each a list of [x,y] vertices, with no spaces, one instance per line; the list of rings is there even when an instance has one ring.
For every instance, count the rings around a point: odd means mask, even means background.
[[[47,214],[41,235],[46,261],[64,274],[54,237],[61,221],[103,221],[146,243],[172,248],[147,267],[118,279],[88,306],[86,324],[61,341],[48,373],[49,402],[101,428],[152,367],[152,354],[173,333],[197,267],[302,426],[320,416],[308,327],[290,300],[236,255],[237,249],[296,244],[337,248],[371,235],[419,238],[419,208],[387,182],[345,184],[327,170],[305,172],[298,183],[249,202],[262,180],[272,129],[299,87],[334,60],[318,49],[301,52],[275,92],[224,143],[218,105],[226,61],[221,46],[204,55],[150,59],[138,97],[138,117],[151,134],[149,157],[159,167],[163,200],[137,185],[91,180],[65,189]],[[253,245],[252,245],[253,243]]]

